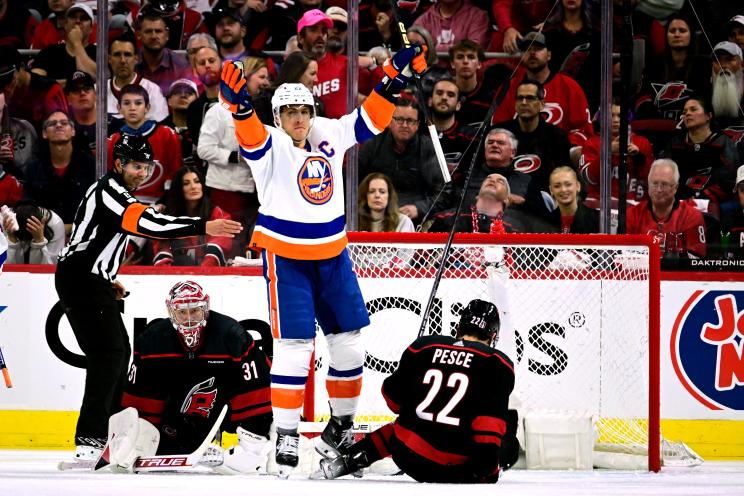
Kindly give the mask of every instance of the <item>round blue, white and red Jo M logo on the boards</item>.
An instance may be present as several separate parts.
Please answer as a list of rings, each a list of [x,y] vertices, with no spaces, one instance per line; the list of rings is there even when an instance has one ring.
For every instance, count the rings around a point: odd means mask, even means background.
[[[674,322],[674,372],[711,410],[744,410],[744,291],[695,291]]]

